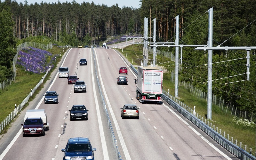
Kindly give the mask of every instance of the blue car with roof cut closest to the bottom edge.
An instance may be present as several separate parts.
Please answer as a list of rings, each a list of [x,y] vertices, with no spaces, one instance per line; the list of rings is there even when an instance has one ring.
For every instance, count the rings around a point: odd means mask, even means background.
[[[92,148],[91,142],[88,138],[69,138],[65,149],[61,149],[64,152],[63,160],[71,159],[92,159],[94,160],[94,151],[96,148]]]

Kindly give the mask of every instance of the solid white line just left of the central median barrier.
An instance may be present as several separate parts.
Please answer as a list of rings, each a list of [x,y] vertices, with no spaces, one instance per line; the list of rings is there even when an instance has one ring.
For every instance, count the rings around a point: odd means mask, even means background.
[[[96,51],[94,50],[94,52],[95,52],[95,56],[96,56]],[[91,72],[93,73],[92,50],[91,49],[90,49],[90,53],[91,53]],[[98,63],[98,61],[97,61],[97,63]],[[103,125],[102,125],[101,116],[100,116],[100,107],[99,107],[98,98],[96,95],[96,88],[95,88],[93,75],[92,75],[92,88],[93,88],[93,94],[95,97],[94,100],[95,100],[95,104],[96,104],[96,111],[97,111],[97,117],[98,117],[98,122],[99,122],[100,139],[101,139],[101,144],[102,144],[103,156],[104,156],[104,160],[109,160],[108,148],[107,148],[106,139],[105,139],[105,135],[104,135],[104,131],[103,131]]]

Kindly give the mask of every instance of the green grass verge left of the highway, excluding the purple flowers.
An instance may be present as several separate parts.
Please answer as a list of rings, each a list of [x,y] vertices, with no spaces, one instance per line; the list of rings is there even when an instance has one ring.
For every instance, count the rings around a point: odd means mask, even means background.
[[[58,63],[61,60],[63,54],[67,51],[67,49],[59,48],[53,46],[51,50],[48,50],[52,54],[60,54],[61,56],[57,57],[56,63],[54,64],[54,68],[57,67]],[[32,97],[30,97],[29,101],[33,100],[36,95],[40,92],[40,90],[44,87],[45,82],[50,78],[51,72],[53,69],[48,72],[48,75],[45,77],[43,84],[41,84],[38,89],[35,91]],[[31,74],[21,70],[20,68],[16,68],[16,79],[15,82],[12,82],[11,85],[6,87],[4,90],[0,92],[0,123],[7,117],[11,112],[15,109],[15,104],[18,106],[31,92],[30,89],[33,89],[36,84],[42,79],[43,74]],[[29,102],[28,102],[29,103]],[[28,106],[25,105],[24,108]],[[6,131],[10,128],[10,125],[6,125],[3,131],[0,134],[6,133]]]

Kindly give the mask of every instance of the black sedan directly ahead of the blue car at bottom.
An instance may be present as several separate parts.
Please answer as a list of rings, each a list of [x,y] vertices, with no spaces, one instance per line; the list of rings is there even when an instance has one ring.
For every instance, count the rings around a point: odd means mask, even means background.
[[[70,121],[74,119],[85,119],[88,120],[88,111],[84,105],[74,105],[70,112]]]

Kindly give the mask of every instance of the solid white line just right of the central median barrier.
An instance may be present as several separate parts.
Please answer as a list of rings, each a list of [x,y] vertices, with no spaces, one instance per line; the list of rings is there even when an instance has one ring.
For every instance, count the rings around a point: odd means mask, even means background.
[[[96,55],[96,52],[95,52],[95,55]],[[122,57],[121,57],[121,58],[122,58]],[[122,58],[122,59],[123,59],[123,58]],[[106,98],[106,102],[107,102],[107,104],[108,104],[109,112],[110,112],[110,114],[111,114],[111,116],[112,116],[112,118],[113,118],[114,125],[115,125],[115,127],[116,127],[116,132],[117,132],[117,135],[118,135],[118,137],[119,137],[120,144],[121,144],[121,146],[122,146],[122,148],[123,148],[123,151],[124,151],[124,156],[125,156],[126,160],[131,160],[131,156],[130,156],[130,154],[129,154],[129,152],[128,152],[128,149],[127,149],[127,147],[126,147],[126,145],[125,145],[125,143],[124,143],[123,135],[122,135],[121,130],[120,130],[120,128],[119,128],[119,125],[118,125],[118,123],[117,123],[116,116],[115,116],[115,114],[114,114],[114,112],[113,112],[113,109],[112,109],[112,107],[111,107],[111,105],[110,105],[110,102],[109,102],[109,100],[108,100],[107,92],[106,92],[105,87],[104,87],[104,84],[103,84],[103,82],[102,82],[102,78],[101,78],[101,75],[100,75],[100,66],[99,66],[99,62],[98,62],[98,57],[97,57],[97,55],[96,55],[96,61],[97,61],[97,66],[98,66],[98,70],[99,70],[99,77],[100,77],[101,89],[103,90],[103,93],[104,93],[105,98]],[[125,64],[126,64],[126,63],[125,63]],[[133,72],[132,72],[132,73],[133,73]],[[124,158],[123,158],[123,159],[124,159]]]

